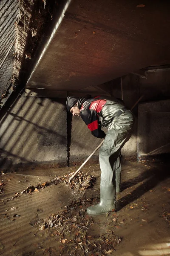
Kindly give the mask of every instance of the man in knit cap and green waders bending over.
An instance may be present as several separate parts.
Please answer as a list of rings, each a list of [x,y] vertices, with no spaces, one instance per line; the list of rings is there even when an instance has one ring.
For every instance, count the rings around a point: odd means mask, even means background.
[[[133,113],[121,100],[106,96],[70,96],[66,105],[73,116],[81,116],[95,137],[104,139],[99,152],[100,202],[88,207],[87,213],[99,215],[116,209],[116,192],[120,190],[120,151],[130,138]],[[107,134],[102,127],[108,128]]]

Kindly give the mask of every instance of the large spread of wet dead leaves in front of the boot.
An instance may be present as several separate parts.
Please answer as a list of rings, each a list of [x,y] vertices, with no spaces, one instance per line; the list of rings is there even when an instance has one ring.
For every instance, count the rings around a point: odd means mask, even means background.
[[[91,202],[91,198],[74,201],[66,210],[38,222],[37,227],[40,230],[56,230],[55,239],[61,243],[60,255],[106,256],[121,241],[112,230],[104,231],[102,235],[99,232],[93,235],[93,230],[97,230],[99,224],[95,224],[93,218],[85,214],[84,209],[85,204],[87,207]]]

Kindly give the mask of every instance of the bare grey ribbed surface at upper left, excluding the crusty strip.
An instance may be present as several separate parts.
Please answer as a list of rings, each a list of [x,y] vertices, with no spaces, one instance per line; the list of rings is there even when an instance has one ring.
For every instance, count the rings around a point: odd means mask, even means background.
[[[0,1],[0,95],[7,89],[8,80],[14,71],[15,22],[18,15],[19,1]]]

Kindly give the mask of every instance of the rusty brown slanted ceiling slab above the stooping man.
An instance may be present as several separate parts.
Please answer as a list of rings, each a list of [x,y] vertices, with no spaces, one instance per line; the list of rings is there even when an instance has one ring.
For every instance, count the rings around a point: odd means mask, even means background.
[[[77,91],[170,63],[169,1],[65,3],[65,15],[37,60],[27,88]]]

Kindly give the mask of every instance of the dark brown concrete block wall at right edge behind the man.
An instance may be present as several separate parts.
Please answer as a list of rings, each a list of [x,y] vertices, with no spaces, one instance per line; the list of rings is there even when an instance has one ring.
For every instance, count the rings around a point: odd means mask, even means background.
[[[170,100],[139,104],[138,159],[170,157]]]

